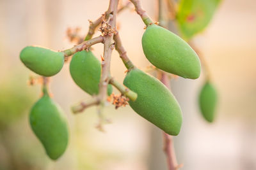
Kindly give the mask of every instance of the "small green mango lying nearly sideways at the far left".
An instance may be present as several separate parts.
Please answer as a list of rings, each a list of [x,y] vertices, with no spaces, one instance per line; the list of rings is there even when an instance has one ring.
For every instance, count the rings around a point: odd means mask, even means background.
[[[63,67],[64,54],[39,46],[26,46],[20,52],[20,60],[37,74],[53,76]]]

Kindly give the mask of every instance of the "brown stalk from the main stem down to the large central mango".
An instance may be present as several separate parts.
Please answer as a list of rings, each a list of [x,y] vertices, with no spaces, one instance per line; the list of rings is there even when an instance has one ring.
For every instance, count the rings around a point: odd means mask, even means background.
[[[134,68],[135,66],[132,64],[131,60],[127,56],[127,52],[126,52],[124,46],[122,45],[122,41],[120,39],[118,32],[115,34],[114,40],[115,40],[116,51],[119,53],[120,58],[124,62],[125,67],[127,67],[128,70]]]

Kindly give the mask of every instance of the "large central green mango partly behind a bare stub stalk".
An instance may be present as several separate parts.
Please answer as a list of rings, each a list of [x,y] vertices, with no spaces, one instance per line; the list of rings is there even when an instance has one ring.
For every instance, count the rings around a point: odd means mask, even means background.
[[[132,69],[125,76],[124,85],[138,94],[136,101],[129,101],[136,113],[167,134],[179,134],[182,111],[173,94],[161,81],[140,69]]]

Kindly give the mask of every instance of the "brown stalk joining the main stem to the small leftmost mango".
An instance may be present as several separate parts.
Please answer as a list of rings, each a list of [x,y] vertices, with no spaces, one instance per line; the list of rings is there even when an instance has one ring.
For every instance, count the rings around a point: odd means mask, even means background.
[[[76,52],[80,52],[82,50],[86,50],[88,47],[95,45],[97,43],[103,43],[104,37],[103,36],[98,36],[96,38],[90,39],[88,41],[83,41],[83,43],[79,45],[75,45],[72,48],[69,48],[67,50],[63,50],[62,52],[64,53],[65,57],[68,57],[70,55],[73,55]]]

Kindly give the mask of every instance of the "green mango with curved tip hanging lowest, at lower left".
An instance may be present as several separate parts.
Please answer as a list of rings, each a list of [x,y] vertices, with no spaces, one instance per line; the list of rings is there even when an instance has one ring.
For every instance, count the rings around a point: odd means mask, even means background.
[[[44,95],[31,110],[30,124],[47,155],[53,160],[58,159],[68,144],[67,120],[60,106]]]

